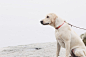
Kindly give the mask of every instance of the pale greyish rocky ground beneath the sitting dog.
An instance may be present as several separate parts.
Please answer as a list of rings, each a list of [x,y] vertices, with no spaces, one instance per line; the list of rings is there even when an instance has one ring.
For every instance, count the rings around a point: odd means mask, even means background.
[[[0,57],[56,57],[56,42],[4,47]],[[65,57],[64,48],[59,57]]]

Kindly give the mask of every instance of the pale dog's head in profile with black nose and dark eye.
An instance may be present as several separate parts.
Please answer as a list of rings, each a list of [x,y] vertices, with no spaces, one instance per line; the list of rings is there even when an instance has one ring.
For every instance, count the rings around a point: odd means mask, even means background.
[[[45,19],[43,19],[41,22],[41,24],[43,25],[51,25],[55,22],[56,18],[58,18],[58,16],[56,16],[56,14],[54,13],[50,13],[48,14]]]

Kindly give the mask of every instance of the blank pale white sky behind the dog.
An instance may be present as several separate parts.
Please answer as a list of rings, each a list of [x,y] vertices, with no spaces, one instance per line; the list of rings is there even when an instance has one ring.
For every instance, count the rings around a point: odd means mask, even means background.
[[[54,28],[40,24],[48,13],[86,28],[86,0],[0,0],[0,47],[55,42]]]

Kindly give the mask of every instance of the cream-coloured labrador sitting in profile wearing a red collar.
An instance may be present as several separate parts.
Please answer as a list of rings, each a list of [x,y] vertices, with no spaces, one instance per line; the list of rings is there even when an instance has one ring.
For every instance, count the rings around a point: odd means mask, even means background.
[[[59,56],[60,47],[66,48],[66,57],[72,52],[72,57],[86,57],[86,47],[81,38],[64,22],[63,19],[54,13],[48,14],[45,19],[40,21],[43,25],[51,25],[55,28],[57,39],[57,56]]]

